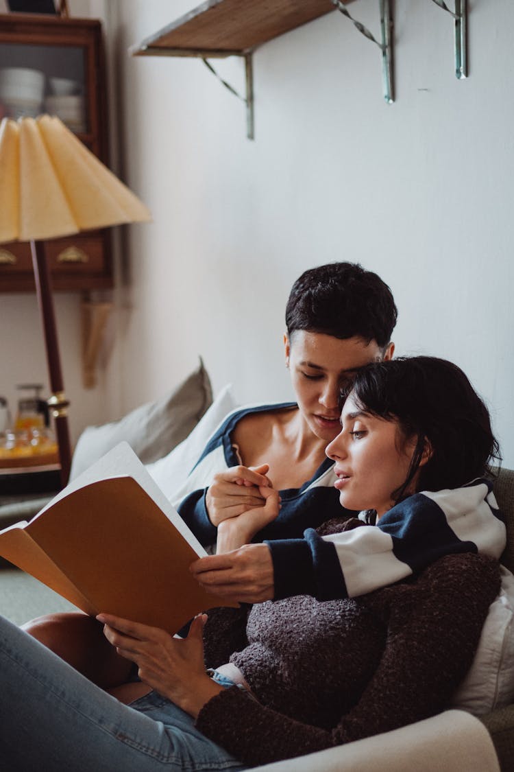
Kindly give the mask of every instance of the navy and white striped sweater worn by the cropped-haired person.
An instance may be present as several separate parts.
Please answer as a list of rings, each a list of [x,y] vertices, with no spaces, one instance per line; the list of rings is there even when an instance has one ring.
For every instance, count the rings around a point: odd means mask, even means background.
[[[178,507],[204,546],[215,543],[217,535],[205,506],[207,486],[214,474],[239,463],[230,440],[234,426],[255,411],[287,407],[294,403],[234,411],[207,443],[186,481],[190,493]],[[276,600],[298,594],[355,598],[418,574],[443,555],[478,552],[499,558],[505,548],[505,525],[492,482],[485,479],[460,489],[417,493],[375,527],[321,537],[314,528],[341,516],[333,466],[327,459],[300,489],[281,491],[280,515],[254,539],[270,547]]]

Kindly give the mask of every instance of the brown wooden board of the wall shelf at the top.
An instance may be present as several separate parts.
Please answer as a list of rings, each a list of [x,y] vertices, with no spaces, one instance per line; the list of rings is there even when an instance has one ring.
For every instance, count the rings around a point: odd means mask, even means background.
[[[331,11],[331,0],[207,0],[130,52],[134,56],[242,54]]]

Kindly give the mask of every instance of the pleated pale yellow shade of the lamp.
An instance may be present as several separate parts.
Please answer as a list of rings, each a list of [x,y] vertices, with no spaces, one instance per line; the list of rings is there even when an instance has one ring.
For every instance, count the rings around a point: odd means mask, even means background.
[[[0,124],[0,243],[149,222],[139,198],[59,118]]]

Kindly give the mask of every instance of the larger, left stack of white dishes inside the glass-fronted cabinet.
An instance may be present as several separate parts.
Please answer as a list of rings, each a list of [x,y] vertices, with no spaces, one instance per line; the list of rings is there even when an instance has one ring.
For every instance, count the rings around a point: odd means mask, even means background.
[[[41,112],[45,73],[26,67],[0,69],[0,100],[10,118],[35,117]]]

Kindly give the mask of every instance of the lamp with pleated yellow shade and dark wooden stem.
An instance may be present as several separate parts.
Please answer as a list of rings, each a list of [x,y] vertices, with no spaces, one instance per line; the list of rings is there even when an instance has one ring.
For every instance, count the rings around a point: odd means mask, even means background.
[[[30,242],[49,368],[62,485],[71,444],[52,284],[42,242],[89,229],[149,222],[146,206],[59,118],[4,118],[0,124],[0,244]]]

